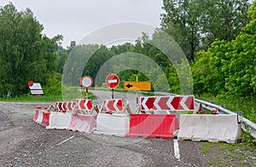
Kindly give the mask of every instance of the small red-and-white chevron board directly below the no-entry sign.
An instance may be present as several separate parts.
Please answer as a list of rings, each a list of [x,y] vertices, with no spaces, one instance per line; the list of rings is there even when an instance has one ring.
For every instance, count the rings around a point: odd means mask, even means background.
[[[112,112],[121,112],[123,110],[122,99],[103,100],[103,110]]]

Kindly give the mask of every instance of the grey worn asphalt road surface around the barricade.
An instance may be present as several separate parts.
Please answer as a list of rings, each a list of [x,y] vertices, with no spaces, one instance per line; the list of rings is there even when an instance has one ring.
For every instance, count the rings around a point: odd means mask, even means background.
[[[109,99],[111,92],[96,95]],[[136,103],[134,97],[124,101]],[[206,166],[192,141],[46,130],[32,118],[38,105],[52,104],[0,103],[0,120],[9,122],[0,131],[0,166]]]

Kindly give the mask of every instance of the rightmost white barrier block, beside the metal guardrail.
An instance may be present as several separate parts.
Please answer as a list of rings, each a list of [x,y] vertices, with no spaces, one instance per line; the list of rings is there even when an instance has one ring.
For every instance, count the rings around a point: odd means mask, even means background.
[[[237,115],[181,114],[178,140],[191,141],[240,141],[241,124]]]

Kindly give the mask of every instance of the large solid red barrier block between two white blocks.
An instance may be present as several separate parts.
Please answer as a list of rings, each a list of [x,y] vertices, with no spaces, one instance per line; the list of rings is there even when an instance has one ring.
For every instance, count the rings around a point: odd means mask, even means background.
[[[174,114],[131,114],[129,137],[174,138],[178,130],[177,118]]]

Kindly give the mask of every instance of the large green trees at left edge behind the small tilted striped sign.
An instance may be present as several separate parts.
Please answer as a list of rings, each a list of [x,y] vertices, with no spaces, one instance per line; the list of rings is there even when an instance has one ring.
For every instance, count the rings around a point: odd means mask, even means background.
[[[0,9],[0,96],[29,92],[28,81],[47,84],[55,73],[57,41],[42,35],[43,26],[30,9],[12,3]]]

